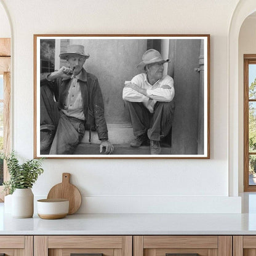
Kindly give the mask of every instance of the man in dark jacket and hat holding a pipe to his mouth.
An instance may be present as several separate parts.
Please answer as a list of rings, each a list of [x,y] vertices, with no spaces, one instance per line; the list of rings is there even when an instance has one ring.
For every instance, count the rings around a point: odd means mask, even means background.
[[[41,152],[50,149],[49,154],[73,154],[85,129],[96,129],[100,153],[103,148],[106,154],[113,153],[98,79],[83,68],[89,56],[84,54],[84,46],[70,45],[66,53],[59,55],[69,66],[41,74]]]

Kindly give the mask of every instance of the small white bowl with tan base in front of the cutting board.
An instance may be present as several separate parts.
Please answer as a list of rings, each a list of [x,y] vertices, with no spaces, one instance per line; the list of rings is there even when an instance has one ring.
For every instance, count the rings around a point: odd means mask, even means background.
[[[37,202],[38,216],[47,220],[64,218],[68,214],[68,199],[40,199]]]

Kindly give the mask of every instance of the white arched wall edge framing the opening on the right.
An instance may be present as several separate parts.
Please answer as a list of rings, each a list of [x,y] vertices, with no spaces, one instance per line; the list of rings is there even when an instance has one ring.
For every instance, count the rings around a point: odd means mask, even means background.
[[[239,31],[242,23],[247,16],[255,12],[256,2],[254,0],[242,0],[238,2],[234,10],[233,17],[230,23],[230,30],[228,33],[228,165],[229,165],[229,195],[238,196],[238,182],[239,182],[239,166],[243,157],[239,147],[241,147],[241,116],[239,116],[239,102],[242,95],[239,95]]]

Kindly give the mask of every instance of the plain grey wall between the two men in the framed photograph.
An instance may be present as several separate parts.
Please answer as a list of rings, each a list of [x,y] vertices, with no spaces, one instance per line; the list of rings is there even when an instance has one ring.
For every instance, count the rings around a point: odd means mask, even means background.
[[[90,58],[85,68],[98,78],[102,89],[105,118],[108,124],[127,124],[129,117],[124,110],[122,89],[140,71],[136,68],[146,50],[143,39],[71,39],[71,44],[82,44]]]

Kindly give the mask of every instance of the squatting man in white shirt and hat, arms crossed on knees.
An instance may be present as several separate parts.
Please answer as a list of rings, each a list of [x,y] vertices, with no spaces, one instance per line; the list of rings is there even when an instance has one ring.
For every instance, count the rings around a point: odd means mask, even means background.
[[[136,137],[130,146],[139,147],[149,138],[151,154],[161,153],[160,140],[172,127],[174,79],[163,75],[163,64],[169,61],[157,50],[146,50],[137,66],[145,73],[126,81],[122,92]]]

